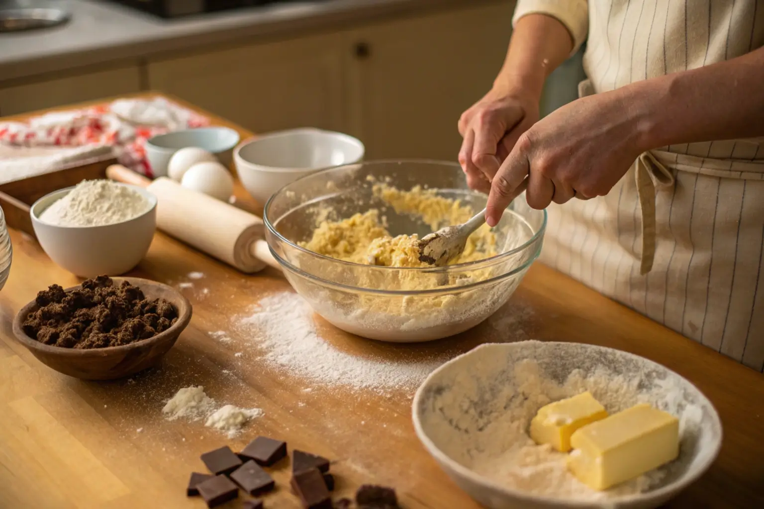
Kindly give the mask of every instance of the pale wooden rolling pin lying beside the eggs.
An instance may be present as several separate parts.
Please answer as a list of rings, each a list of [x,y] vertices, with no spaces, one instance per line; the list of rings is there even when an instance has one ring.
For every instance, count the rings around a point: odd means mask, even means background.
[[[157,227],[178,240],[251,274],[270,265],[281,269],[264,240],[260,217],[160,177],[154,181],[119,164],[109,179],[147,188],[157,197]]]

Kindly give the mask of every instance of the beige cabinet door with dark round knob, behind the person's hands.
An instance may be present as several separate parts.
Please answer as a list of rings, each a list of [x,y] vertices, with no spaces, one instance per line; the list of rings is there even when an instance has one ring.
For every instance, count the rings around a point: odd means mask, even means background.
[[[456,160],[459,115],[496,78],[513,4],[482,2],[346,33],[351,134],[368,159]]]

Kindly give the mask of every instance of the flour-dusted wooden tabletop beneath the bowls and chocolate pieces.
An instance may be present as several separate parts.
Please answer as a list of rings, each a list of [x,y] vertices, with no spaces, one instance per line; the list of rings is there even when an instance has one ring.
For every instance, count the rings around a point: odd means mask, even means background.
[[[243,137],[251,134],[239,130]],[[257,434],[335,460],[338,494],[376,482],[397,488],[410,509],[478,507],[416,439],[410,417],[413,389],[380,395],[321,386],[265,365],[246,337],[231,333],[229,343],[209,337],[228,330],[231,315],[262,296],[290,290],[277,270],[242,275],[157,233],[131,275],[176,284],[188,281],[189,272],[202,272],[195,288],[184,290],[194,306],[191,324],[157,369],[128,380],[83,382],[47,369],[12,339],[11,320],[38,290],[79,281],[29,237],[11,230],[11,241],[11,275],[0,292],[0,507],[204,507],[185,496],[189,472],[204,472],[199,455],[225,444],[238,449]],[[317,321],[328,343],[390,362],[527,338],[610,346],[660,362],[698,385],[724,424],[717,461],[666,507],[764,502],[764,376],[540,263],[494,317],[448,340],[386,345]],[[265,416],[235,439],[199,422],[164,420],[163,401],[192,384],[204,385],[219,401],[262,408]],[[299,507],[287,487],[286,466],[274,476],[280,487],[267,496],[266,507]]]

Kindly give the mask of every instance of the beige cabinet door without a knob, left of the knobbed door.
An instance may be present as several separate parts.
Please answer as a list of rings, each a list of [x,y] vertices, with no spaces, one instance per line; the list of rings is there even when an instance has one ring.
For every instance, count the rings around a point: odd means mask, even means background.
[[[343,130],[341,48],[330,34],[151,62],[149,85],[255,132]]]

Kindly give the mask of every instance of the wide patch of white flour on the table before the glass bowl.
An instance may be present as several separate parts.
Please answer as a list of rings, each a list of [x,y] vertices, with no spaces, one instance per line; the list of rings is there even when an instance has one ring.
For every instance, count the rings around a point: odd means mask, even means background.
[[[337,350],[316,332],[310,305],[299,295],[282,292],[261,299],[236,327],[261,348],[263,359],[312,382],[386,391],[416,388],[447,357],[418,362],[364,358]]]

